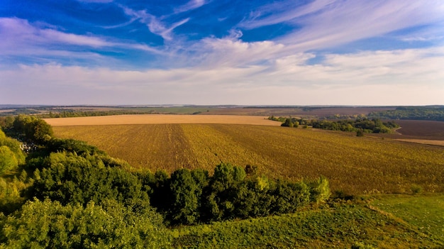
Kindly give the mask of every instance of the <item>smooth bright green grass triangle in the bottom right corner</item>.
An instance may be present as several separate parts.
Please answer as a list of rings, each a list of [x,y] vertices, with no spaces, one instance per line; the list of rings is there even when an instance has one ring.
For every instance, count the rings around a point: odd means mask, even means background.
[[[444,246],[443,195],[390,195],[379,197],[372,201],[372,205],[401,218]]]

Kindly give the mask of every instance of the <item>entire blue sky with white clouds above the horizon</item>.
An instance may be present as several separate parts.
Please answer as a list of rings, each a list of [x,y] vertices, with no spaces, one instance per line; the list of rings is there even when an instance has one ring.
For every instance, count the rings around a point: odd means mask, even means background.
[[[0,0],[0,104],[444,104],[444,1]]]

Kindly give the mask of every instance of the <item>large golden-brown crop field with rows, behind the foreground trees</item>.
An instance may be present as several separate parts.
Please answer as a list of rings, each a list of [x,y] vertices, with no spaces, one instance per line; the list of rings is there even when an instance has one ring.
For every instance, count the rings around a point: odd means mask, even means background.
[[[278,122],[276,122],[278,123]],[[55,126],[134,167],[213,170],[219,162],[257,165],[271,177],[328,177],[350,193],[444,192],[444,150],[389,139],[302,128],[233,124]]]

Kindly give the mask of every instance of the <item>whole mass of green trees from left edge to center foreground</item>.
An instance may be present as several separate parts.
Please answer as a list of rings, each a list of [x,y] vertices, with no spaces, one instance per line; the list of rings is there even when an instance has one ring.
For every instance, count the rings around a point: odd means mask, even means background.
[[[269,179],[250,165],[136,170],[53,138],[33,116],[4,121],[0,145],[0,248],[169,248],[171,226],[293,213],[330,196],[325,177]]]

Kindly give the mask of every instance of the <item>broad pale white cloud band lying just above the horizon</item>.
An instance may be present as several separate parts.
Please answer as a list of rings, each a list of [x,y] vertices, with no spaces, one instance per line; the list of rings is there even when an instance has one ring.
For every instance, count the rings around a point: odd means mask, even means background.
[[[144,71],[23,65],[0,70],[0,99],[11,104],[444,104],[443,47],[330,54],[307,65],[313,56],[282,56],[270,65]]]

